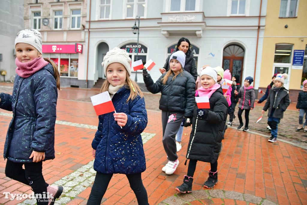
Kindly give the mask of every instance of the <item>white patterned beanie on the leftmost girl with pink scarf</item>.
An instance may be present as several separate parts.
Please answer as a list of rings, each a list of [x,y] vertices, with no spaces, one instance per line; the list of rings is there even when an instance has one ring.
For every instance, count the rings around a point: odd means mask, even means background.
[[[33,46],[43,54],[42,52],[42,43],[41,43],[41,33],[35,29],[25,29],[18,32],[15,38],[15,46],[17,43],[27,43]]]

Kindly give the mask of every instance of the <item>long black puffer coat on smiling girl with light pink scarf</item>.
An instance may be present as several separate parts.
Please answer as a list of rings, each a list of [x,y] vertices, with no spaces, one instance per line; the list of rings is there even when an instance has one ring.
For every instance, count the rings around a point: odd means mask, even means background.
[[[203,109],[206,114],[200,118],[197,106],[194,107],[192,131],[187,151],[187,159],[214,163],[219,158],[223,131],[227,118],[228,103],[222,88],[209,98],[210,108]]]

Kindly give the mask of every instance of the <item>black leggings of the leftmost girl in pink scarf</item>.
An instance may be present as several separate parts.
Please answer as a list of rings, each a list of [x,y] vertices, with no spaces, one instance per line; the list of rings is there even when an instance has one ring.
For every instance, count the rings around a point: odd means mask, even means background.
[[[22,165],[25,165],[25,169]],[[47,192],[47,187],[49,184],[45,182],[42,174],[43,162],[12,162],[10,160],[6,161],[5,175],[11,179],[18,182],[24,183],[25,185],[31,186],[34,194],[41,194]],[[37,205],[45,205],[48,202],[37,200]]]

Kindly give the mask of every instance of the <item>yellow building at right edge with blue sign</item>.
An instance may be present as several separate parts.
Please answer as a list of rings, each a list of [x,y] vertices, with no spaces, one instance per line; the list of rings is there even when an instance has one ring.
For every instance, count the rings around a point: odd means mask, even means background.
[[[297,102],[302,82],[307,78],[306,11],[304,0],[267,2],[259,88],[265,91],[274,73],[287,73],[284,86],[290,90],[291,102]]]

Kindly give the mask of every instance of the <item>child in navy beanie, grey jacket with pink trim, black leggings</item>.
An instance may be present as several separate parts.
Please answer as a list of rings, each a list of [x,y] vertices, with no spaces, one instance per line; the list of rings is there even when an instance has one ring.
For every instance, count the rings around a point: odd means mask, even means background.
[[[254,109],[254,103],[255,103],[255,91],[254,87],[251,86],[251,83],[254,81],[254,79],[250,76],[245,78],[244,80],[244,86],[242,86],[238,91],[235,90],[235,94],[240,99],[239,102],[239,111],[238,111],[238,118],[240,121],[240,125],[238,127],[238,130],[240,130],[243,127],[243,121],[242,121],[242,113],[245,110],[245,127],[243,131],[247,132],[248,129],[248,123],[249,123],[249,112],[250,110]]]

